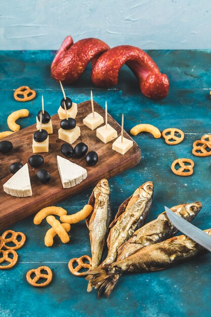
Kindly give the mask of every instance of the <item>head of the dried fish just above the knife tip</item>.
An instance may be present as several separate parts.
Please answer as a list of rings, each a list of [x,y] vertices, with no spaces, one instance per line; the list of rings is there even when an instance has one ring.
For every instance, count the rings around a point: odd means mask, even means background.
[[[201,203],[195,202],[195,203],[184,204],[184,205],[173,207],[172,210],[180,214],[181,217],[191,220],[198,214],[201,208],[202,208]]]

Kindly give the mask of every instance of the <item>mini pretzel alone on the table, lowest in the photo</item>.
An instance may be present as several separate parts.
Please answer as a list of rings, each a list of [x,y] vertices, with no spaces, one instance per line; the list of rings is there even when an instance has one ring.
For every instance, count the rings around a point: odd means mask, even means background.
[[[47,271],[47,274],[41,273],[42,270]],[[31,279],[32,273],[35,274],[33,279]],[[30,271],[28,271],[26,273],[26,280],[30,285],[32,285],[34,287],[45,287],[45,286],[49,285],[49,283],[51,282],[52,276],[53,276],[53,273],[52,273],[52,270],[50,269],[50,267],[40,266],[40,267],[33,268]],[[39,279],[47,279],[47,281],[44,283],[36,283],[39,281]]]

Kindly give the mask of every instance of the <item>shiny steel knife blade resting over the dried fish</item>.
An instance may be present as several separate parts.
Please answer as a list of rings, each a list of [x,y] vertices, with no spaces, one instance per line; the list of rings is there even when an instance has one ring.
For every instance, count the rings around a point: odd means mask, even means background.
[[[211,252],[211,236],[209,234],[197,228],[182,217],[179,217],[176,213],[174,213],[171,209],[167,207],[165,207],[165,212],[168,219],[179,231],[189,236],[190,239],[197,242],[200,246]]]

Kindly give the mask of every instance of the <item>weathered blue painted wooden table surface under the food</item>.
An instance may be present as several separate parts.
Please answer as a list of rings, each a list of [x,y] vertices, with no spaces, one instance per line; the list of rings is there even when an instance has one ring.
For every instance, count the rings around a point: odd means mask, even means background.
[[[193,223],[203,229],[210,228],[210,157],[193,156],[192,143],[211,132],[211,51],[148,53],[170,79],[170,93],[166,99],[154,101],[144,97],[126,67],[120,72],[118,86],[109,90],[91,84],[88,68],[77,83],[65,87],[66,95],[78,103],[90,99],[90,89],[93,89],[94,99],[102,106],[107,100],[109,113],[118,123],[124,112],[127,132],[140,122],[153,124],[160,130],[177,127],[185,132],[184,141],[176,146],[166,145],[162,138],[154,139],[149,134],[135,137],[142,150],[140,164],[109,180],[113,215],[139,185],[152,180],[155,187],[149,221],[163,211],[164,205],[172,207],[199,200],[203,208]],[[50,76],[54,54],[52,51],[0,53],[1,131],[8,130],[9,113],[23,107],[30,110],[30,115],[19,120],[21,127],[33,124],[40,109],[41,95],[44,95],[50,114],[56,113],[62,94],[58,83]],[[14,100],[14,89],[23,85],[36,90],[35,99],[27,103]],[[171,163],[179,157],[195,162],[192,176],[179,177],[171,172]],[[69,213],[77,212],[87,203],[91,191],[90,188],[59,206]],[[72,225],[67,245],[55,239],[52,248],[44,246],[48,229],[45,221],[35,226],[31,217],[11,229],[24,232],[27,242],[18,250],[17,265],[0,271],[1,317],[210,316],[210,254],[163,271],[123,275],[110,298],[99,301],[95,291],[86,292],[87,282],[71,275],[67,267],[70,258],[90,254],[85,222]],[[25,278],[29,269],[40,265],[48,265],[53,270],[53,281],[44,289],[31,287]]]

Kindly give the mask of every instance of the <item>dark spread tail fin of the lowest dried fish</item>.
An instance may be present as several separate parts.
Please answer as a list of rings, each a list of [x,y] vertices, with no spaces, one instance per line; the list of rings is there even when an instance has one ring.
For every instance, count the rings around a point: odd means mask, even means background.
[[[120,272],[116,273],[115,270],[110,270],[109,265],[105,265],[91,270],[86,280],[98,289],[98,298],[100,298],[101,294],[105,294],[107,297],[110,295],[120,276]]]

